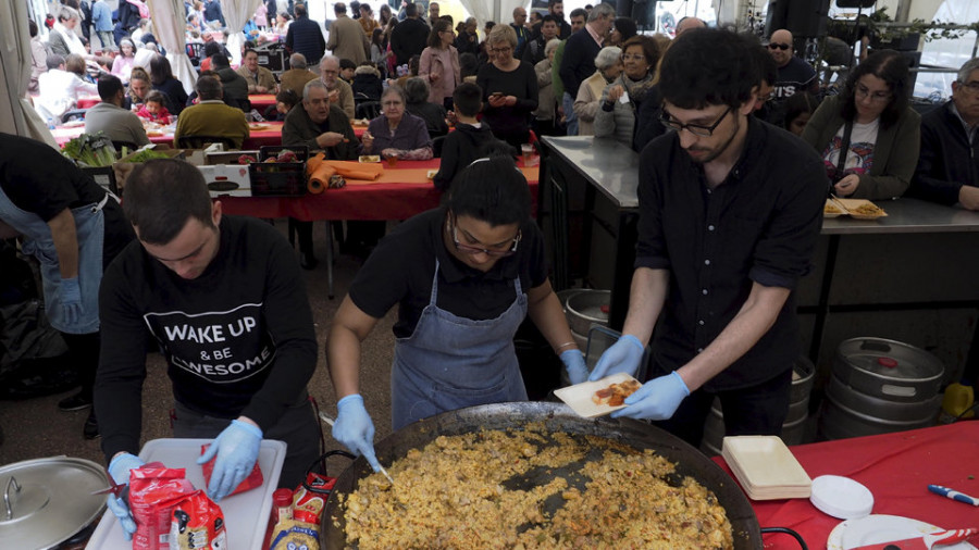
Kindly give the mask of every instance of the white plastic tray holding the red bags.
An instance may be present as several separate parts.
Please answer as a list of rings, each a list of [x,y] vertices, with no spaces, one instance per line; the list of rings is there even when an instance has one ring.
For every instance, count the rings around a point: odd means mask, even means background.
[[[198,489],[205,489],[203,471],[197,465],[200,446],[213,439],[153,439],[147,441],[139,451],[146,462],[162,462],[166,467],[187,470],[187,479]],[[219,505],[224,512],[227,526],[227,547],[234,550],[261,550],[272,513],[272,492],[278,485],[278,474],[285,462],[286,443],[263,439],[259,447],[259,468],[262,471],[261,487],[238,495],[225,497]],[[99,526],[88,540],[86,549],[132,550],[133,543],[123,535],[119,520],[106,511]]]

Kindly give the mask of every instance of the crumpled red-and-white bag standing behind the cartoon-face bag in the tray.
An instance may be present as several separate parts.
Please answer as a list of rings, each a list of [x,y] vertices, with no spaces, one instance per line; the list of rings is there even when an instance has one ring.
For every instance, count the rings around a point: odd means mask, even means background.
[[[133,550],[169,550],[173,508],[195,490],[185,473],[159,462],[129,471],[129,510],[136,520]]]

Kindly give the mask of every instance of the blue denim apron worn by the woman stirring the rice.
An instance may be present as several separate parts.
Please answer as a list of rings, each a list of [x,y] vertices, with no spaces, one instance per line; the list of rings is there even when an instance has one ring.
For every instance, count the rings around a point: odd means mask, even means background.
[[[391,375],[395,430],[435,414],[486,403],[526,401],[513,335],[526,316],[526,295],[496,318],[473,321],[437,308],[438,261],[432,296],[414,333],[395,343]]]

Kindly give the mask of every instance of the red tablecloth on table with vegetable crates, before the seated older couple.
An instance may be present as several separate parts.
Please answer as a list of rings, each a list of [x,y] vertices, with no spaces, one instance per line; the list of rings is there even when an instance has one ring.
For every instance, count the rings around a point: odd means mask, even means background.
[[[400,161],[388,173],[402,172],[404,183],[347,185],[327,189],[320,195],[302,198],[282,197],[221,197],[224,212],[255,217],[295,217],[318,220],[407,220],[438,205],[442,192],[431,180],[418,176],[419,168],[438,167],[438,159],[431,161]],[[522,168],[531,188],[536,210],[537,166]],[[422,173],[423,174],[423,173]],[[422,176],[423,177],[423,176]]]

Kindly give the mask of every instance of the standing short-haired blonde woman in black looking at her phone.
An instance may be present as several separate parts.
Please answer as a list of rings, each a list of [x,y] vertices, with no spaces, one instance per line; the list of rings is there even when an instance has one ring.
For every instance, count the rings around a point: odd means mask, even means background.
[[[518,150],[530,141],[530,117],[537,109],[537,74],[530,63],[513,58],[517,33],[496,25],[486,38],[493,61],[483,65],[476,84],[483,89],[483,122],[493,135]]]

